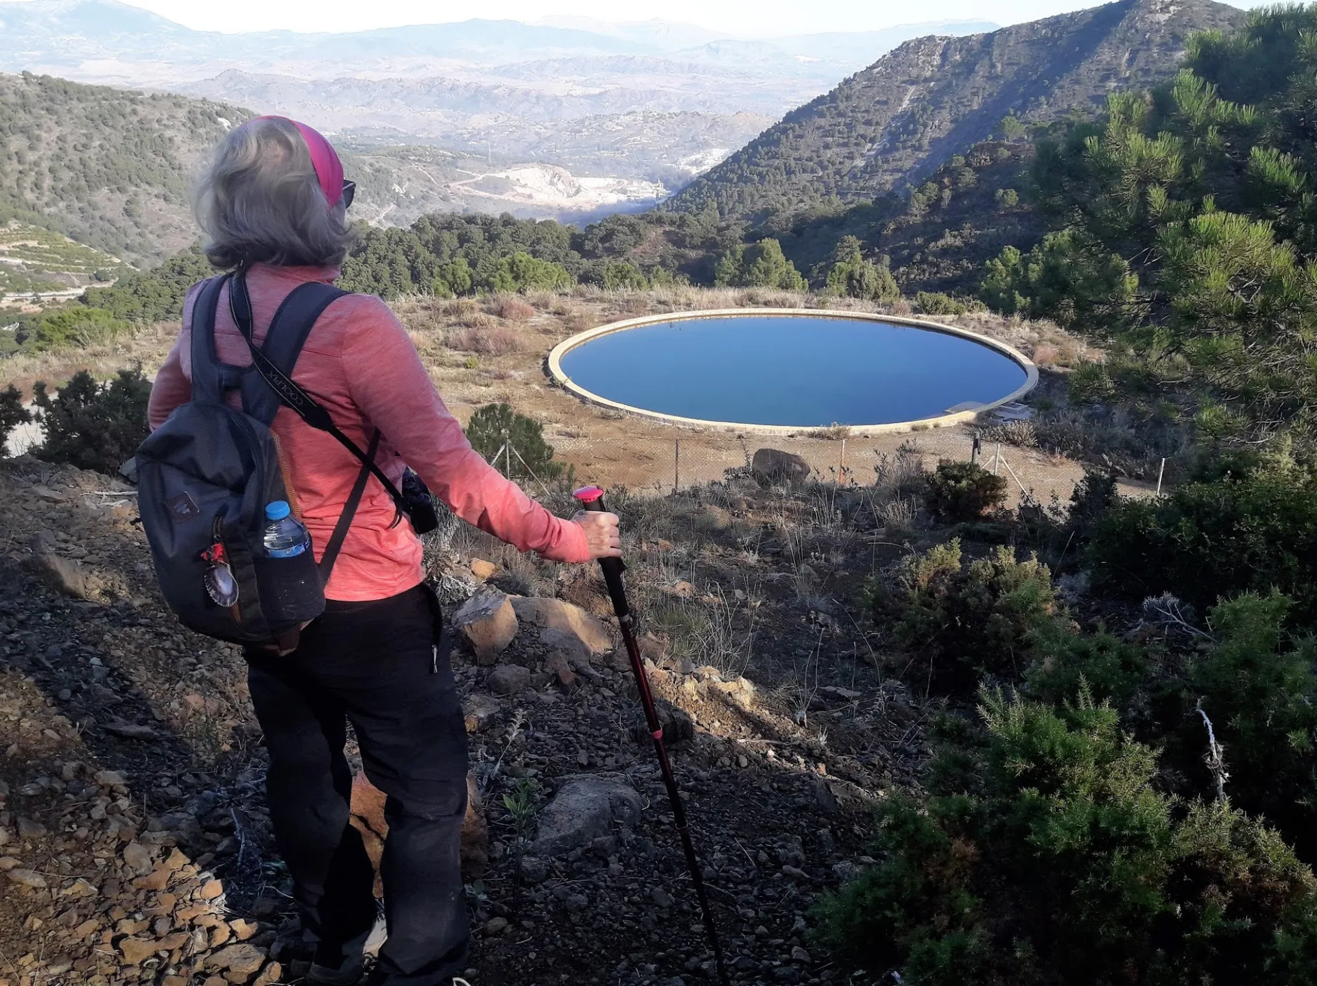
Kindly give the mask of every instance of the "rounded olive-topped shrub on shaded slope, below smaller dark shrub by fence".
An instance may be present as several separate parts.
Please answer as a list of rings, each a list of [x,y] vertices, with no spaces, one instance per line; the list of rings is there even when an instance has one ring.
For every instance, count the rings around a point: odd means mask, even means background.
[[[928,661],[928,681],[973,691],[979,678],[1018,678],[1030,636],[1056,619],[1051,573],[1036,558],[1017,561],[1001,546],[965,565],[960,541],[906,559],[894,591],[874,596],[880,617],[894,620],[901,644]]]

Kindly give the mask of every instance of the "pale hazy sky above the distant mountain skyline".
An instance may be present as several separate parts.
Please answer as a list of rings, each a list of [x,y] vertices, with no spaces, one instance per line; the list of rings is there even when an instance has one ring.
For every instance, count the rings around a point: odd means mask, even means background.
[[[0,0],[9,3],[13,0]],[[1235,7],[1258,7],[1263,0],[1233,0]],[[1052,13],[1096,7],[1090,0],[136,0],[133,7],[154,11],[179,24],[205,30],[362,30],[407,24],[439,24],[470,17],[537,21],[549,16],[597,17],[607,21],[668,21],[699,24],[728,36],[765,37],[826,30],[868,30],[943,18],[989,20],[1018,24]]]

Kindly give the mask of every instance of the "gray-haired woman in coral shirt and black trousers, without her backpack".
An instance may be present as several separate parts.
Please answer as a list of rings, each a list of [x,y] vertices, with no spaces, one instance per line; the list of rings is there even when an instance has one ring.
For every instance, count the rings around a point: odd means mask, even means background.
[[[328,141],[283,117],[252,120],[217,149],[196,190],[196,216],[211,263],[246,271],[257,345],[294,288],[338,276],[352,242],[345,212],[353,191]],[[217,355],[246,366],[252,357],[224,291]],[[183,330],[151,388],[153,429],[191,395],[196,296],[194,287]],[[353,294],[332,301],[311,329],[292,379],[360,449],[378,429],[375,461],[395,486],[406,463],[462,520],[553,561],[581,563],[620,553],[615,516],[554,517],[471,449],[403,326],[378,298]],[[286,407],[273,430],[319,558],[361,463]],[[246,653],[252,704],[270,756],[270,820],[315,943],[308,978],[319,983],[361,978],[362,948],[375,921],[374,874],[361,836],[348,824],[348,723],[366,777],[387,795],[381,875],[389,937],[369,982],[448,986],[466,956],[458,865],[466,731],[446,654],[433,663],[421,542],[395,517],[383,484],[370,479],[325,586],[324,615],[303,629],[292,653]]]

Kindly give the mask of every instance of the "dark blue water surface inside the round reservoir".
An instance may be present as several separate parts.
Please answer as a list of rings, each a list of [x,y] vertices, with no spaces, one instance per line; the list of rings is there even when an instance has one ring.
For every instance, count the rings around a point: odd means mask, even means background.
[[[655,323],[590,340],[562,370],[601,398],[711,421],[890,424],[1001,400],[1025,369],[972,340],[805,315]]]

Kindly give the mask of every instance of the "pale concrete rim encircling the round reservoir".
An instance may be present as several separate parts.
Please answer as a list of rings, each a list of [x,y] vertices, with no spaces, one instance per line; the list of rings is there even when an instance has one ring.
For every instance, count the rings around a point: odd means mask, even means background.
[[[562,370],[562,357],[569,351],[581,346],[590,340],[598,338],[599,336],[607,336],[614,332],[626,332],[627,329],[636,329],[641,325],[658,325],[673,321],[689,321],[691,319],[734,319],[740,316],[764,316],[764,315],[778,315],[778,316],[807,316],[814,319],[852,319],[855,321],[872,321],[886,325],[910,325],[917,329],[927,329],[928,332],[940,332],[947,336],[959,336],[960,338],[968,340],[971,342],[977,342],[981,346],[993,349],[1006,358],[1014,361],[1025,371],[1025,382],[1017,387],[1014,391],[1001,398],[1000,400],[993,400],[986,404],[976,404],[972,408],[965,408],[960,411],[952,411],[944,415],[938,415],[936,417],[925,417],[917,421],[892,421],[888,424],[861,424],[861,425],[847,425],[851,434],[892,434],[898,432],[911,432],[923,430],[926,428],[944,428],[947,425],[961,424],[967,421],[973,421],[984,411],[992,411],[993,408],[1001,407],[1002,404],[1009,404],[1013,400],[1019,400],[1022,396],[1029,394],[1038,384],[1038,367],[1034,361],[1026,357],[1014,346],[1009,346],[1000,340],[994,340],[989,336],[982,336],[977,332],[971,332],[969,329],[961,329],[956,325],[943,325],[935,321],[923,321],[922,319],[905,319],[896,315],[878,315],[876,312],[846,312],[834,311],[830,308],[716,308],[711,311],[701,312],[669,312],[666,315],[645,315],[639,319],[626,319],[623,321],[608,323],[607,325],[599,325],[594,329],[586,329],[579,332],[570,338],[558,342],[548,358],[548,373],[558,384],[576,394],[582,400],[590,404],[598,404],[599,407],[612,408],[615,411],[624,411],[631,415],[640,415],[641,417],[652,417],[657,421],[668,421],[672,424],[693,425],[699,428],[723,428],[736,432],[749,432],[759,434],[794,434],[797,432],[815,430],[818,428],[826,428],[827,425],[809,424],[809,425],[768,425],[768,424],[748,424],[741,421],[710,421],[701,417],[682,417],[680,415],[665,415],[658,411],[649,411],[641,407],[632,407],[631,404],[622,404],[616,400],[610,400],[593,391],[586,390],[576,380],[573,380]]]

